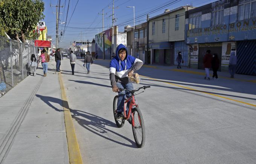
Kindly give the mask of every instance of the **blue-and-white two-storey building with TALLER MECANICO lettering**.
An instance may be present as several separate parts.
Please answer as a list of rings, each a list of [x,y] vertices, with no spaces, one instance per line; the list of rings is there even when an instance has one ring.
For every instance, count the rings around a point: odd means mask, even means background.
[[[217,54],[227,71],[235,51],[236,73],[256,75],[256,0],[219,0],[186,12],[190,68],[204,69],[207,50]]]

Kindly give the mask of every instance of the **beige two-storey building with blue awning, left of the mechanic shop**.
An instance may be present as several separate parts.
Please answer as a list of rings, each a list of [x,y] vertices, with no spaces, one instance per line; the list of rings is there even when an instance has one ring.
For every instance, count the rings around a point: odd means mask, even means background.
[[[184,38],[185,12],[193,9],[181,6],[166,10],[163,14],[149,19],[149,48],[151,63],[158,65],[177,65],[177,54],[181,51],[184,63],[188,65],[188,48]]]

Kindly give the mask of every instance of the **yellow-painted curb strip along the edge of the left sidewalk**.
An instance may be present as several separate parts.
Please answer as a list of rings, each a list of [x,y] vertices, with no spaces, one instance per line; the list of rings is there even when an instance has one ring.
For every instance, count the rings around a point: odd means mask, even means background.
[[[69,110],[69,103],[67,102],[67,96],[62,81],[61,73],[59,72],[59,84],[61,87],[61,98],[64,110],[64,121],[67,134],[67,146],[69,149],[69,163],[70,164],[82,164],[82,156],[80,153],[78,141],[76,139],[75,127],[73,125],[72,116]]]

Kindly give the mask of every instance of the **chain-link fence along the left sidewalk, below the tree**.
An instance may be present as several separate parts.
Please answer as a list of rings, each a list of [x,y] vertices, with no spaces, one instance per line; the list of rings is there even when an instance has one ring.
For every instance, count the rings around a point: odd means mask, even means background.
[[[29,75],[28,62],[37,47],[0,36],[0,97]]]

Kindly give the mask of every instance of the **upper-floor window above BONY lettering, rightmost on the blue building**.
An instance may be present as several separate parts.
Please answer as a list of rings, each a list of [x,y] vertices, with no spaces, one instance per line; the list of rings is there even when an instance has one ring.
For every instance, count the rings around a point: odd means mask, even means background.
[[[256,17],[256,0],[239,0],[238,4],[238,21]]]

